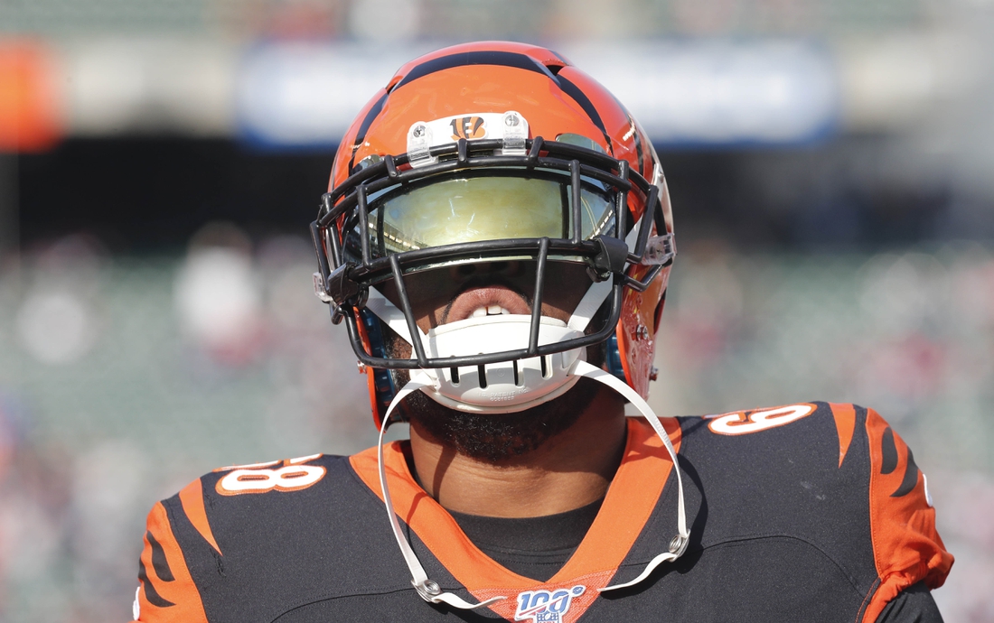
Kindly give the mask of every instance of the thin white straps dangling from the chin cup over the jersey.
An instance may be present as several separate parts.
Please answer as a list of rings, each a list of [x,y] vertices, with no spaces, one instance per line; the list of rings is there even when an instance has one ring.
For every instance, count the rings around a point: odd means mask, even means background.
[[[387,413],[384,415],[383,426],[380,428],[380,441],[377,446],[377,466],[380,472],[380,489],[383,492],[383,501],[387,507],[387,514],[390,517],[390,527],[394,532],[394,538],[397,539],[397,545],[401,547],[401,553],[404,555],[404,561],[407,562],[408,569],[411,571],[411,583],[414,585],[414,589],[417,590],[417,594],[421,596],[421,599],[429,603],[446,603],[461,610],[482,608],[502,599],[506,599],[507,597],[497,596],[478,603],[469,603],[455,593],[442,592],[438,583],[428,578],[427,573],[424,571],[424,567],[421,566],[420,560],[417,559],[417,555],[414,553],[414,549],[408,542],[407,537],[404,536],[404,532],[401,530],[401,522],[397,518],[397,514],[394,512],[394,503],[390,497],[390,487],[387,485],[387,470],[383,460],[383,437],[387,432],[387,427],[390,425],[390,416],[397,405],[400,404],[401,401],[413,391],[433,387],[432,382],[425,375],[416,374],[414,371],[412,372],[411,382],[397,392],[397,395],[394,396],[393,401],[390,403],[390,407],[387,409]],[[687,544],[690,542],[690,531],[687,530],[687,514],[684,508],[683,478],[680,475],[680,464],[677,459],[676,450],[673,448],[669,435],[666,434],[666,430],[659,421],[659,417],[656,416],[649,404],[643,400],[642,396],[640,396],[634,389],[631,389],[626,383],[617,379],[610,373],[606,373],[599,368],[595,368],[582,360],[577,360],[571,372],[573,375],[586,377],[587,379],[603,384],[610,389],[614,389],[624,396],[629,402],[631,402],[649,422],[652,429],[656,431],[656,434],[662,440],[663,445],[666,446],[666,451],[669,452],[670,458],[673,460],[673,469],[675,469],[677,473],[677,499],[679,502],[679,508],[677,510],[677,536],[670,541],[669,551],[664,551],[650,560],[635,579],[623,584],[614,584],[613,586],[598,588],[597,590],[604,592],[608,590],[616,590],[618,588],[626,588],[644,580],[657,566],[663,562],[676,560],[683,555],[683,552],[687,549]]]

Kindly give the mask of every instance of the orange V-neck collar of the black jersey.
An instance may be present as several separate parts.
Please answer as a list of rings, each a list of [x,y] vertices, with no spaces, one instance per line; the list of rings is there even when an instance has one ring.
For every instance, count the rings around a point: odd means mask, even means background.
[[[673,418],[660,420],[680,450],[680,423]],[[407,523],[438,561],[477,599],[496,595],[508,598],[490,609],[513,620],[515,595],[530,589],[555,590],[584,587],[573,599],[569,620],[576,620],[606,586],[625,555],[634,545],[652,515],[670,475],[673,462],[662,440],[641,418],[629,417],[628,437],[621,464],[607,489],[603,505],[586,536],[570,560],[548,582],[519,575],[487,556],[463,534],[455,520],[414,481],[404,455],[403,443],[394,441],[384,448],[394,512]],[[349,458],[362,481],[382,500],[377,470],[377,449],[365,450]]]

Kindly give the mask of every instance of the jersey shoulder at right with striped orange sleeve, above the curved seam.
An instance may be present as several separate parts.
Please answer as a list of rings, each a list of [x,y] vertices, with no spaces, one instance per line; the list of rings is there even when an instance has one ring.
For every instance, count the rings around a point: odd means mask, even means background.
[[[944,581],[952,556],[927,479],[874,409],[813,401],[679,419],[680,454],[722,509],[706,528],[716,541],[764,531],[815,544],[873,581],[868,616],[917,582]]]

